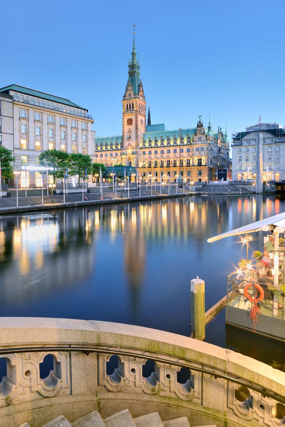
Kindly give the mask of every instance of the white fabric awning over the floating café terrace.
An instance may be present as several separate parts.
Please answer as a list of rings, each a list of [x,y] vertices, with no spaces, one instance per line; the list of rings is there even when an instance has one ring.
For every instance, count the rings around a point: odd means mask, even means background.
[[[224,237],[237,236],[239,234],[253,233],[254,231],[269,231],[270,228],[279,227],[279,233],[283,233],[285,230],[285,212],[279,213],[278,215],[270,216],[266,219],[261,219],[261,221],[252,222],[251,224],[244,225],[244,227],[235,228],[235,230],[227,231],[223,234],[218,234],[217,236],[210,237],[207,242],[212,243],[216,240],[223,239]]]

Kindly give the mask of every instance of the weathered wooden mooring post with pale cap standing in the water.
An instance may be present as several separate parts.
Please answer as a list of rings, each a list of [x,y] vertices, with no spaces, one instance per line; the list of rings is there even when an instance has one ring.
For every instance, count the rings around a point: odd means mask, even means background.
[[[191,336],[205,341],[205,282],[191,280]]]

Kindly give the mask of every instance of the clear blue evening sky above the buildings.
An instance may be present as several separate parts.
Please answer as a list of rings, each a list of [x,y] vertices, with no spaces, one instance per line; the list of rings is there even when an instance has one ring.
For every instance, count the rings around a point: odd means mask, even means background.
[[[0,87],[19,84],[88,108],[97,136],[122,132],[135,23],[152,123],[228,134],[284,120],[285,2],[11,1],[1,5]]]

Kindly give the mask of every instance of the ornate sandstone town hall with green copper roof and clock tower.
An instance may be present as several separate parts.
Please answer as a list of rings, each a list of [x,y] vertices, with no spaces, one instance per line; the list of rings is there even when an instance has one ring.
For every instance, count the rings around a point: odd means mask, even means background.
[[[95,161],[106,167],[135,167],[142,181],[214,181],[217,168],[229,168],[229,140],[220,126],[212,131],[198,116],[196,127],[168,130],[164,123],[146,123],[146,99],[135,48],[122,99],[122,135],[95,137]],[[161,178],[162,177],[162,178]]]

